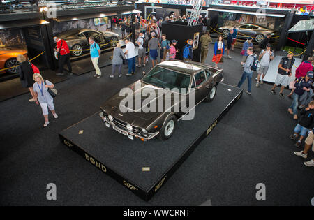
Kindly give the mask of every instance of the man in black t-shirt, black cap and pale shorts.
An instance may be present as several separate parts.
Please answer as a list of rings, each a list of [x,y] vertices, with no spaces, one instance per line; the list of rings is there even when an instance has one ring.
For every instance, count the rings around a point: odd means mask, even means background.
[[[283,57],[281,62],[278,65],[278,74],[274,83],[274,86],[271,88],[271,94],[276,94],[276,87],[281,85],[281,90],[279,91],[279,96],[285,98],[283,95],[283,89],[289,85],[290,76],[292,75],[292,66],[295,59],[293,58],[293,52],[289,51],[287,57]]]

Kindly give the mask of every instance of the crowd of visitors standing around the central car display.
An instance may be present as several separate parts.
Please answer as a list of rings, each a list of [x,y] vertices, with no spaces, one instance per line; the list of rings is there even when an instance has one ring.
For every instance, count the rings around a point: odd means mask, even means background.
[[[117,28],[121,29],[122,36],[126,36],[125,52],[121,49],[121,43],[117,43],[117,46],[114,47],[112,54],[112,73],[109,75],[110,78],[114,78],[116,72],[118,71],[118,78],[122,76],[122,67],[125,65],[128,68],[128,73],[126,76],[132,76],[136,73],[136,67],[142,68],[147,64],[148,56],[150,57],[152,67],[158,64],[158,54],[160,61],[167,61],[176,59],[177,53],[180,49],[177,49],[177,40],[168,39],[166,34],[163,34],[162,23],[168,21],[181,20],[186,21],[189,17],[182,16],[166,17],[165,21],[162,19],[156,20],[156,17],[152,16],[151,20],[143,20],[142,17],[135,17],[136,25],[136,41],[135,44],[130,41],[128,34],[130,32],[130,17],[125,17],[124,20],[117,20]],[[204,20],[200,20],[204,22]],[[204,23],[203,23],[204,24]],[[259,45],[260,54],[255,54],[253,38],[249,37],[242,46],[241,50],[241,66],[243,66],[244,71],[241,75],[237,87],[241,87],[245,80],[248,80],[248,89],[245,90],[246,94],[251,95],[252,90],[252,78],[253,73],[257,72],[257,82],[256,87],[263,85],[264,77],[269,70],[269,65],[272,60],[274,60],[275,53],[271,49],[271,43],[269,43],[270,35],[267,38],[264,38]],[[59,60],[59,73],[57,75],[63,74],[63,65],[68,65],[68,72],[71,74],[70,66],[70,51],[66,41],[54,37],[56,42],[56,57]],[[94,38],[90,36],[88,38],[90,45],[90,57],[91,63],[93,64],[96,74],[95,78],[100,78],[102,73],[98,67],[98,59],[100,57],[101,51],[99,45],[94,41]],[[219,63],[223,62],[223,58],[232,59],[230,56],[230,50],[234,50],[234,45],[237,42],[237,29],[234,27],[230,29],[227,39],[222,35],[218,35],[216,42],[214,43],[214,55],[211,59],[212,64],[218,67]],[[209,44],[212,43],[212,39],[209,31],[204,29],[204,34],[200,38],[200,50],[201,50],[201,59],[202,63],[206,62],[207,54],[209,52]],[[138,47],[137,59],[135,53],[135,45]],[[149,54],[149,55],[148,55]],[[193,39],[187,39],[186,44],[181,48],[181,55],[184,61],[193,60]],[[36,70],[36,66],[33,66],[31,62],[20,55],[17,57],[17,60],[20,62],[19,72],[20,80],[23,87],[29,88],[32,98],[29,100],[40,105],[43,112],[43,117],[45,119],[45,124],[49,124],[48,120],[48,110],[52,112],[54,118],[57,118],[58,115],[54,110],[53,98],[51,96],[50,89],[54,89],[52,82],[44,80],[39,71]],[[304,150],[299,152],[294,152],[297,156],[307,158],[308,151],[313,146],[314,150],[314,57],[309,57],[307,61],[302,62],[296,69],[295,80],[291,82],[290,78],[292,77],[292,67],[294,65],[294,53],[289,51],[287,56],[283,57],[278,65],[278,72],[276,75],[276,80],[271,88],[271,94],[276,95],[276,87],[281,86],[279,91],[279,97],[285,98],[283,91],[285,87],[289,86],[291,90],[290,94],[287,96],[292,99],[292,103],[287,111],[293,116],[293,119],[299,120],[297,126],[294,128],[294,134],[290,135],[290,139],[297,140],[295,146],[300,147],[302,141],[305,139]],[[137,63],[137,64],[136,64]],[[307,137],[306,137],[307,136]],[[304,162],[306,166],[314,166],[314,160]]]

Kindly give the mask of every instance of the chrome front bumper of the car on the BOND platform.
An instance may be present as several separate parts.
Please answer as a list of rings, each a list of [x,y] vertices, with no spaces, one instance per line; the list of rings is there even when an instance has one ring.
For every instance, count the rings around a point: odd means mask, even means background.
[[[105,117],[105,115],[103,115],[103,112],[100,112],[99,116],[108,128],[110,128],[110,126],[112,126],[112,129],[114,129],[115,131],[117,131],[123,135],[128,136],[128,138],[131,140],[134,140],[134,138],[140,138],[140,140],[142,140],[142,141],[147,141],[147,140],[151,140],[151,138],[154,138],[154,137],[156,137],[156,135],[159,134],[159,131],[158,131],[155,133],[147,133],[147,136],[144,136],[140,133],[134,133],[133,131],[127,131],[126,129],[119,128],[116,124],[114,124],[114,122],[111,122],[109,119],[107,119],[107,117]]]

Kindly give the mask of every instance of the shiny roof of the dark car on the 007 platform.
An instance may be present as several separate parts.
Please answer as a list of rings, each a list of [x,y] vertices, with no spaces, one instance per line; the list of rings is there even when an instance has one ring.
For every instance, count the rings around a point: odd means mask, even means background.
[[[160,64],[157,64],[157,66],[190,75],[194,75],[194,73],[198,73],[203,69],[208,68],[208,66],[203,64],[180,60],[164,61]]]

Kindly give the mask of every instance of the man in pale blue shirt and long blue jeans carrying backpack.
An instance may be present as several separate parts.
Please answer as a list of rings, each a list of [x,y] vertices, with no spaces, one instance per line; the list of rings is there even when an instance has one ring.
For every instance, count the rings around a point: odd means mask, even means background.
[[[240,88],[241,85],[244,83],[246,78],[248,78],[248,90],[246,90],[246,94],[251,95],[251,88],[252,88],[252,75],[253,75],[253,65],[255,65],[257,62],[256,55],[253,54],[253,48],[248,48],[246,51],[248,54],[248,58],[246,59],[246,62],[241,62],[241,65],[244,66],[244,72],[242,73],[241,80],[239,81],[237,87]],[[257,67],[255,67],[256,69]]]

